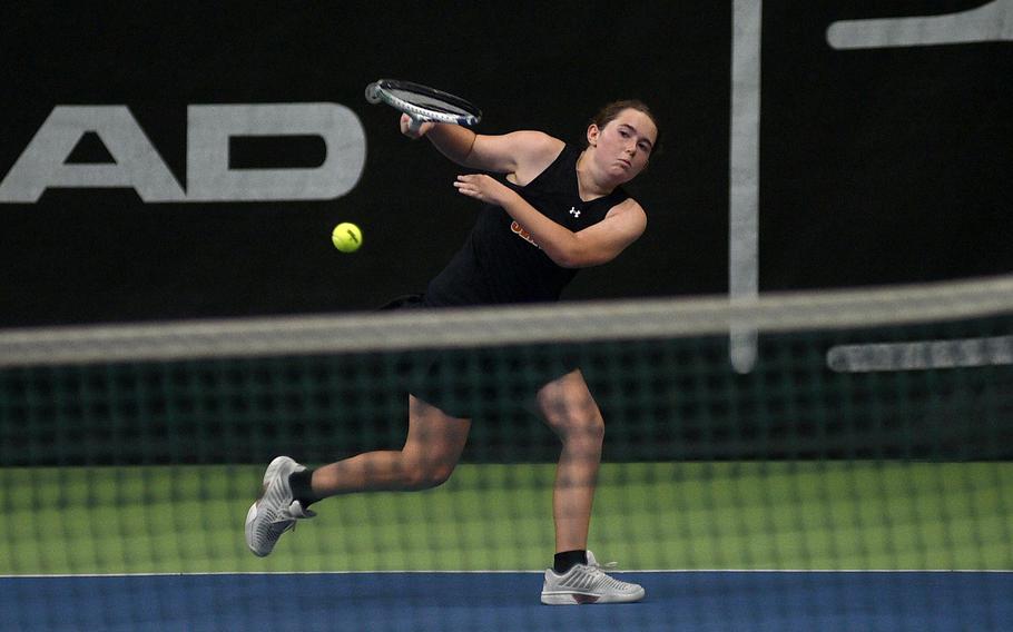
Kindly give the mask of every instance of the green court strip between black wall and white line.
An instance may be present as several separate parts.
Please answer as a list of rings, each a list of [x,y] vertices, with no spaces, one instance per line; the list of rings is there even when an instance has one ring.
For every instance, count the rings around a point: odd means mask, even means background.
[[[0,575],[538,570],[552,464],[331,498],[267,559],[245,547],[262,465],[0,470]],[[604,464],[590,547],[622,569],[1010,570],[1013,464]]]

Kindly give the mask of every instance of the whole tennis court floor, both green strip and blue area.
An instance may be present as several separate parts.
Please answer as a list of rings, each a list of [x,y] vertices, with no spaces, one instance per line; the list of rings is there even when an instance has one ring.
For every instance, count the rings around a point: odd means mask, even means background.
[[[578,609],[539,604],[540,572],[503,570],[534,569],[551,549],[549,465],[466,465],[437,491],[342,498],[266,560],[244,550],[247,498],[234,488],[258,473],[4,472],[3,502],[16,508],[0,555],[0,629],[893,631],[1013,621],[1013,573],[1001,570],[1010,464],[611,464],[594,531],[606,551],[659,569],[795,570],[620,570],[647,587],[642,603]],[[490,487],[501,488],[498,501],[483,500]]]

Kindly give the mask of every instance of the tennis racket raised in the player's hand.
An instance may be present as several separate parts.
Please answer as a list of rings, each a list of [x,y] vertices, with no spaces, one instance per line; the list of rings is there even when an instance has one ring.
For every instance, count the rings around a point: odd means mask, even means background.
[[[406,113],[412,131],[419,131],[427,121],[471,127],[482,120],[482,110],[471,101],[411,81],[380,79],[366,86],[366,100],[386,103]]]

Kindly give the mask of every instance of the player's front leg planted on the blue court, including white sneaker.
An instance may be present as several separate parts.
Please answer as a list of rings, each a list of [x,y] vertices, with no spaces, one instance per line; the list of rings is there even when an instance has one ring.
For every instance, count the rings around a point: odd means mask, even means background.
[[[545,571],[542,603],[618,603],[643,599],[641,586],[603,573],[587,550],[604,419],[583,375],[574,371],[550,382],[539,391],[538,405],[545,423],[562,442],[552,492],[555,561]]]

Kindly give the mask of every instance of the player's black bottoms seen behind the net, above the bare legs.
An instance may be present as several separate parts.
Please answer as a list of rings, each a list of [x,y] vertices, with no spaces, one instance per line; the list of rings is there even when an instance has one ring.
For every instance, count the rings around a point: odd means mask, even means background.
[[[439,309],[424,295],[395,298],[380,310]],[[535,412],[548,383],[579,368],[579,357],[551,345],[474,349],[422,349],[397,362],[400,385],[453,417],[498,417],[517,408]]]

